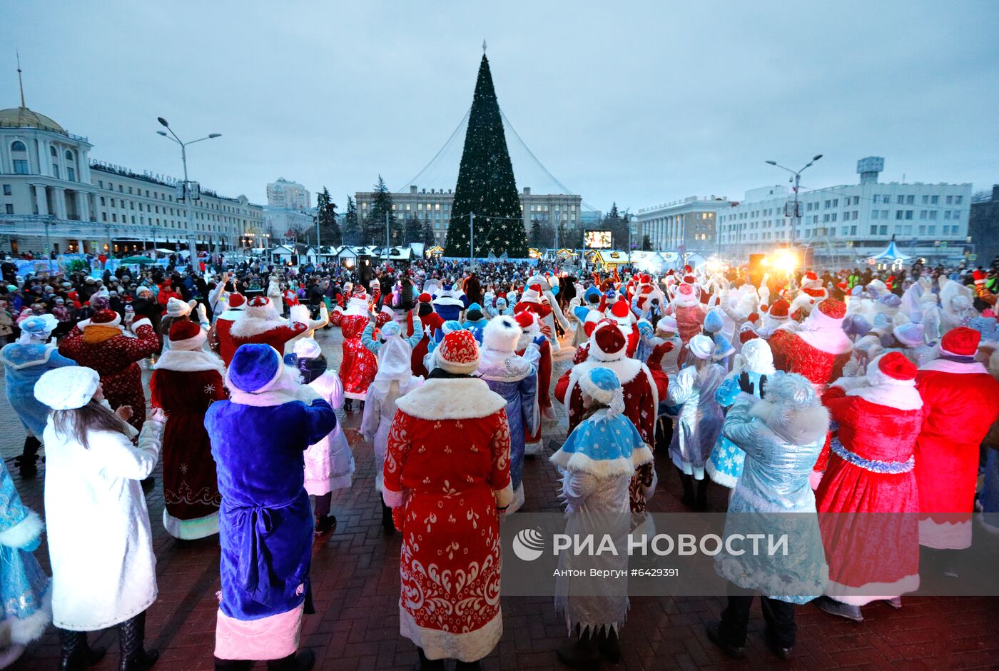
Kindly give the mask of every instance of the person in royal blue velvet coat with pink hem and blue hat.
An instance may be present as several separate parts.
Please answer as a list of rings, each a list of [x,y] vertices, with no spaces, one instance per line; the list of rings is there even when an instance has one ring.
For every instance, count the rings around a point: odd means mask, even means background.
[[[271,669],[307,671],[313,651],[297,653],[302,617],[312,612],[304,453],[336,428],[337,416],[270,345],[237,349],[226,386],[229,400],[205,415],[222,494],[215,668],[269,660]]]

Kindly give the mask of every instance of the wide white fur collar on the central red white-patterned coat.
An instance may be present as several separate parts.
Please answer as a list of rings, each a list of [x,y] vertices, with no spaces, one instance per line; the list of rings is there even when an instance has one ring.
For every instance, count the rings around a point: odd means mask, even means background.
[[[396,407],[418,419],[480,419],[506,407],[506,400],[478,378],[431,378],[396,401]]]

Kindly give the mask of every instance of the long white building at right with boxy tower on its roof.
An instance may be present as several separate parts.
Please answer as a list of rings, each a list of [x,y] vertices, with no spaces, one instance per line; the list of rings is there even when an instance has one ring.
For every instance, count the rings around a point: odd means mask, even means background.
[[[971,184],[877,181],[884,159],[857,162],[859,184],[798,194],[793,241],[816,265],[862,262],[895,240],[899,251],[928,262],[961,256],[968,242]],[[718,252],[734,260],[791,242],[793,193],[786,186],[747,191],[718,213]]]

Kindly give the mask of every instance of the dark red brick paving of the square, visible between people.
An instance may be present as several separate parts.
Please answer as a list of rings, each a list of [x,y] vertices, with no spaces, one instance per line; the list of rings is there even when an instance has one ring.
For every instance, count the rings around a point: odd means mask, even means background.
[[[336,367],[340,361],[339,329],[322,332],[318,340]],[[563,371],[570,350],[556,355],[553,378]],[[148,375],[147,375],[148,377]],[[552,383],[554,380],[552,381]],[[0,381],[2,386],[2,381]],[[554,445],[565,435],[565,414],[555,403],[556,421],[546,433]],[[358,472],[354,486],[334,495],[336,532],[313,551],[313,594],[316,614],[305,620],[303,646],[317,653],[317,669],[344,671],[411,669],[416,659],[412,643],[399,635],[398,534],[386,536],[381,526],[379,496],[374,489],[372,448],[358,433],[359,412],[339,413],[354,448]],[[0,401],[0,456],[12,473],[12,458],[20,452],[24,432],[5,401]],[[657,464],[659,489],[650,503],[655,512],[679,512],[679,484],[666,459]],[[212,668],[215,613],[219,589],[219,550],[214,538],[180,544],[163,529],[163,493],[148,493],[154,547],[158,560],[159,600],[148,615],[147,643],[161,651],[157,669],[195,671]],[[18,482],[25,503],[42,513],[44,467],[40,477]],[[524,466],[524,510],[557,507],[556,477],[543,458]],[[709,510],[723,511],[726,491],[709,490]],[[86,548],[81,548],[86,552]],[[36,552],[48,569],[46,545]],[[779,662],[763,643],[758,601],[750,620],[747,659],[723,656],[704,634],[704,623],[717,619],[721,597],[637,597],[625,624],[623,659],[604,668],[627,671],[659,669],[973,669],[999,668],[997,597],[905,597],[894,611],[886,604],[864,608],[864,622],[832,618],[812,606],[797,608],[798,644],[794,659]],[[504,597],[503,636],[485,668],[561,669],[554,656],[565,638],[565,626],[555,616],[548,597]],[[117,635],[108,630],[91,636],[92,644],[109,648],[96,671],[117,668]],[[58,638],[50,628],[12,669],[55,669]],[[263,668],[264,665],[258,665]]]

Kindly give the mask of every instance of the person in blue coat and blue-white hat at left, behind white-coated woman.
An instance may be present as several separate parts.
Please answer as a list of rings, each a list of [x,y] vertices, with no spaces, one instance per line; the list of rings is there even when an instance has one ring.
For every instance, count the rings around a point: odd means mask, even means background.
[[[35,477],[38,473],[39,438],[45,432],[49,409],[35,398],[35,383],[45,371],[61,366],[75,366],[76,362],[59,354],[55,343],[48,339],[53,329],[59,325],[52,315],[36,315],[21,322],[21,336],[17,342],[5,345],[0,350],[0,361],[4,364],[7,383],[7,400],[24,425],[28,437],[24,439],[24,450],[17,459],[22,479]]]

